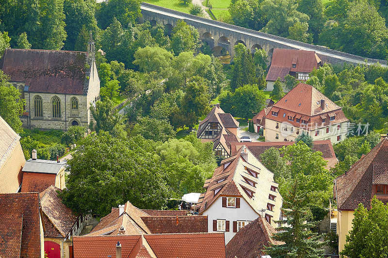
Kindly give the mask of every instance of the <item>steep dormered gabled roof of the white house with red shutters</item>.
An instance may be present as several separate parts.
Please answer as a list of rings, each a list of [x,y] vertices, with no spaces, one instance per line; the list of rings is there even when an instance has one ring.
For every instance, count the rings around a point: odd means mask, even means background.
[[[253,174],[259,176],[256,177]],[[274,174],[243,145],[233,156],[223,160],[220,167],[214,169],[210,182],[205,182],[204,187],[207,190],[203,198],[198,200],[196,209],[199,210],[199,214],[203,214],[220,196],[236,196],[243,197],[252,209],[259,213],[263,208],[264,200],[268,198],[268,196],[262,196],[263,193],[266,193],[266,190],[269,192],[271,185],[277,187],[273,177]],[[256,186],[251,185],[244,178]],[[249,196],[248,192],[254,193],[255,197]],[[279,198],[281,198],[280,195]],[[266,205],[267,202],[265,207]],[[278,208],[280,212],[280,207]]]

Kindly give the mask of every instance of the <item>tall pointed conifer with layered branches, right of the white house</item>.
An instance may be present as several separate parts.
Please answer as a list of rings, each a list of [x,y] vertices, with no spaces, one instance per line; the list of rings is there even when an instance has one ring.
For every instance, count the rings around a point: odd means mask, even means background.
[[[312,221],[311,211],[306,207],[306,196],[307,192],[301,191],[298,181],[293,180],[290,191],[283,196],[283,207],[290,207],[290,210],[282,209],[287,219],[279,221],[281,226],[273,237],[274,240],[282,241],[284,244],[267,247],[265,252],[271,257],[316,258],[323,256],[322,246],[325,242],[321,242],[321,236],[311,231],[317,222]]]

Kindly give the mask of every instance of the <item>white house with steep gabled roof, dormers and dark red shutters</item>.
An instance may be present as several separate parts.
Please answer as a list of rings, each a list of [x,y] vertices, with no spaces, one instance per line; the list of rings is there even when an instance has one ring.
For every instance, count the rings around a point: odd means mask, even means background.
[[[208,230],[225,232],[228,243],[240,228],[263,216],[273,227],[280,219],[282,197],[274,174],[242,146],[221,162],[205,181],[196,210],[208,216]]]

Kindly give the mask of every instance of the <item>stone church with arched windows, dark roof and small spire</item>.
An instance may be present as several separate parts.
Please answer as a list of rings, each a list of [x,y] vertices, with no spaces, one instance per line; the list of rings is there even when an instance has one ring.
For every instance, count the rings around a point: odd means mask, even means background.
[[[5,49],[0,69],[26,101],[24,127],[87,128],[93,119],[89,107],[99,98],[100,80],[92,34],[87,52]]]

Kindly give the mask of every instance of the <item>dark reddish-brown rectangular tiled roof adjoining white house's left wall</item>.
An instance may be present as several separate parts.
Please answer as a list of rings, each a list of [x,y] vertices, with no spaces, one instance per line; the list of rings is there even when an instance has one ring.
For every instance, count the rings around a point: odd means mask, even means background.
[[[142,217],[152,234],[208,232],[208,216]]]

